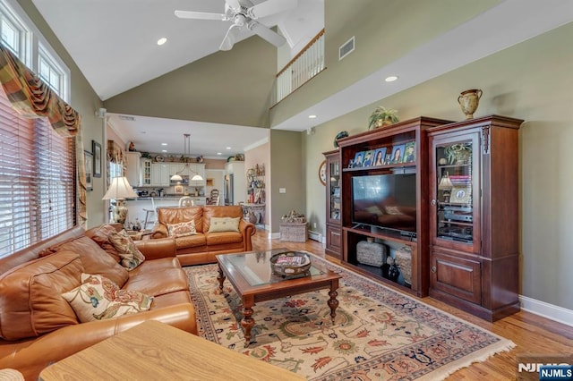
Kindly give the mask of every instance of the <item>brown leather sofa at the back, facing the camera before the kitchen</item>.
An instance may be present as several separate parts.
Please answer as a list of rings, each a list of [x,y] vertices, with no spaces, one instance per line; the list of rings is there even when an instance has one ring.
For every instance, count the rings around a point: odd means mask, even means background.
[[[167,224],[194,221],[196,234],[176,237],[176,254],[183,266],[215,263],[217,254],[252,250],[254,224],[244,221],[241,206],[158,207],[152,241],[168,237]],[[240,218],[238,232],[209,233],[213,217]]]

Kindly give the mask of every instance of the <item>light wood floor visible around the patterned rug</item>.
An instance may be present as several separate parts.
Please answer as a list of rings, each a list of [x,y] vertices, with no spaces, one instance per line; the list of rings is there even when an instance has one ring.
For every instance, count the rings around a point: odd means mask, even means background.
[[[257,230],[252,240],[253,250],[275,248],[307,250],[325,258],[324,248],[322,244],[317,241],[296,243],[269,240],[267,238],[268,234],[269,232],[267,231]],[[326,258],[337,263],[336,259],[328,256]],[[517,378],[517,355],[573,353],[573,327],[565,326],[550,319],[541,318],[535,314],[524,311],[518,312],[508,318],[500,319],[495,323],[490,323],[432,298],[418,299],[435,308],[446,311],[451,315],[473,323],[476,326],[481,326],[495,334],[499,334],[517,345],[512,351],[496,354],[489,360],[475,363],[468,368],[458,370],[458,372],[447,378],[448,380],[512,380]]]

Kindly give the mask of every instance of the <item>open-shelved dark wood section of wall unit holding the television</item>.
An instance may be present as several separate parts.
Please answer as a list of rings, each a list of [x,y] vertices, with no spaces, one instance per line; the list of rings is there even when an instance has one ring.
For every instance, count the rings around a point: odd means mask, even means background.
[[[428,294],[429,282],[428,200],[424,197],[428,194],[429,165],[425,130],[445,123],[450,122],[419,117],[338,140],[342,262],[418,296]],[[406,155],[405,161],[406,145],[408,152],[413,153]],[[365,157],[373,157],[373,162],[364,165]],[[390,258],[402,248],[411,253],[410,284],[400,278],[392,280],[387,275],[388,266],[392,266],[389,263],[384,268],[358,260],[357,245],[369,238],[372,243],[387,247]]]

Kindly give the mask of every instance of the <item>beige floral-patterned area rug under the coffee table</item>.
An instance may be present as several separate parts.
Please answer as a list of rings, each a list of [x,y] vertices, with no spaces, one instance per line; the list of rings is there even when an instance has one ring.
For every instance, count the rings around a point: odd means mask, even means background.
[[[217,265],[184,267],[204,338],[310,380],[443,379],[459,368],[515,346],[509,340],[405,294],[312,257],[342,275],[335,324],[328,290],[253,309],[252,343],[244,348],[241,300]]]

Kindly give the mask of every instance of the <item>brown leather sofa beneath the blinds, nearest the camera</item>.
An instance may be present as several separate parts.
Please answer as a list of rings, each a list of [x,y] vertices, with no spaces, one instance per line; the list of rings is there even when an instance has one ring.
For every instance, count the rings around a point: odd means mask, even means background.
[[[145,260],[127,271],[90,238],[96,229],[74,227],[0,259],[0,368],[38,379],[50,363],[149,319],[197,334],[175,241],[136,241]],[[150,309],[81,323],[61,296],[81,284],[81,273],[103,275],[124,290],[153,296]]]

